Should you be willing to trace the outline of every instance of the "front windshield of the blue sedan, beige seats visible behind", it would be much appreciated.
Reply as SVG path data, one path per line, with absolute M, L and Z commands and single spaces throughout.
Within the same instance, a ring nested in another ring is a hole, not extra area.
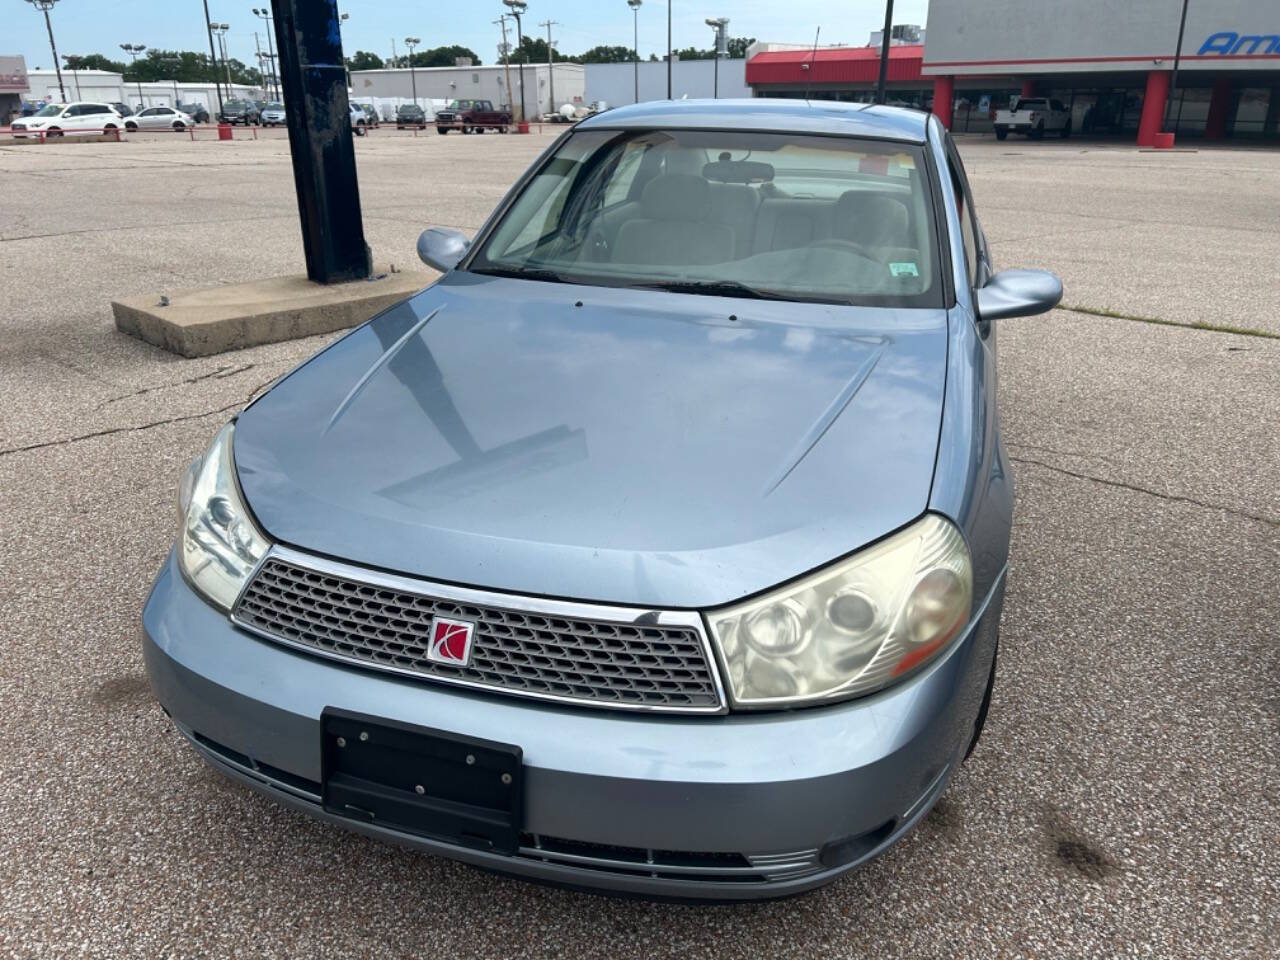
M 922 147 L 851 137 L 580 131 L 474 273 L 713 296 L 941 306 Z

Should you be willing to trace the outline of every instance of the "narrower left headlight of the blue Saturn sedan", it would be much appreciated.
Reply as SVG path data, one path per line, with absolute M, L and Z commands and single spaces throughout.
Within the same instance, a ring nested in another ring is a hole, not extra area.
M 269 547 L 241 500 L 232 460 L 233 426 L 218 431 L 187 470 L 178 493 L 178 562 L 191 585 L 229 611 Z

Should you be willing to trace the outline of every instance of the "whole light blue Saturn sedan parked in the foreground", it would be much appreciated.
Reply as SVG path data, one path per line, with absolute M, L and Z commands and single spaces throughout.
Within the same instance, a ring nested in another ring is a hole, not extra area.
M 193 749 L 632 895 L 797 893 L 900 840 L 992 699 L 998 328 L 1062 292 L 993 273 L 938 119 L 618 108 L 419 251 L 434 285 L 182 483 L 142 644 Z

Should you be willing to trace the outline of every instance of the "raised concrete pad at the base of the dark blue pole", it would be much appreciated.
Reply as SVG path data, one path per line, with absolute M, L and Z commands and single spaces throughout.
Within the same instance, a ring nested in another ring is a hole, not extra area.
M 184 357 L 314 337 L 362 324 L 417 293 L 428 273 L 375 270 L 369 280 L 324 285 L 306 276 L 205 287 L 111 301 L 115 326 Z

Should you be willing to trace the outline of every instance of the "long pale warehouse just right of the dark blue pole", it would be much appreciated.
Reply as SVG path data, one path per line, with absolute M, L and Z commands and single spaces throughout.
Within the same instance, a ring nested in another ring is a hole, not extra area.
M 511 88 L 507 73 L 511 73 Z M 581 104 L 585 97 L 582 64 L 557 63 L 525 64 L 525 110 L 530 119 L 552 113 L 562 104 Z M 553 91 L 554 88 L 554 91 Z M 520 68 L 508 67 L 419 67 L 410 70 L 397 67 L 381 70 L 353 70 L 351 96 L 376 102 L 410 102 L 415 91 L 419 105 L 430 110 L 433 104 L 449 100 L 490 100 L 520 113 Z M 554 92 L 554 96 L 553 96 Z

